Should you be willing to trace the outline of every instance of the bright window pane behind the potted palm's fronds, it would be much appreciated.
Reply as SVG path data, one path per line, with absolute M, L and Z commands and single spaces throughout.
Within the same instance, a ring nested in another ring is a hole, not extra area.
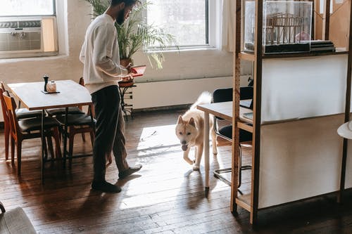
M 179 46 L 207 44 L 207 0 L 151 0 L 148 24 L 163 28 L 174 35 Z

